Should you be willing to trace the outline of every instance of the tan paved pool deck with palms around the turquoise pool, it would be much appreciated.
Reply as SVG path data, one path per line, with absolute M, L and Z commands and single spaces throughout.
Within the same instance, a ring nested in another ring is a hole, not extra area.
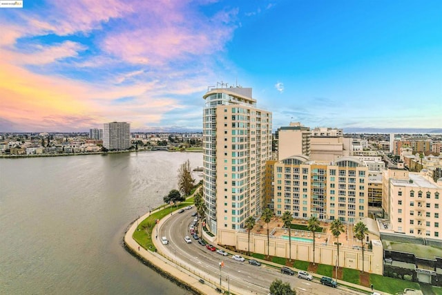
M 291 222 L 293 225 L 305 225 L 307 226 L 307 220 L 294 219 Z M 283 222 L 281 218 L 273 217 L 269 222 L 269 233 L 273 232 L 273 236 L 282 238 L 282 236 L 289 236 L 289 229 L 282 228 Z M 330 231 L 330 224 L 327 222 L 320 222 L 320 227 L 323 228 L 323 232 L 316 232 L 315 243 L 321 245 L 334 245 L 336 238 L 333 236 L 332 231 Z M 357 240 L 353 237 L 353 226 L 344 225 L 345 231 L 340 234 L 339 242 L 343 247 L 361 247 L 361 240 Z M 255 227 L 251 230 L 253 234 L 267 235 L 267 223 L 264 220 L 258 220 Z M 313 240 L 313 234 L 311 231 L 302 231 L 300 229 L 291 229 L 291 237 L 306 238 Z M 349 238 L 351 237 L 351 238 Z M 377 240 L 378 237 L 373 234 L 369 234 L 369 239 Z M 288 240 L 288 238 L 287 238 Z M 292 242 L 298 242 L 292 239 Z

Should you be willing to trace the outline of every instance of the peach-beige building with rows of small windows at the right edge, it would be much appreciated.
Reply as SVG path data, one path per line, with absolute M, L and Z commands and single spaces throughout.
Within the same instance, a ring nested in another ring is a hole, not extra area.
M 401 164 L 402 165 L 402 164 Z M 384 173 L 385 205 L 392 230 L 419 238 L 442 239 L 442 180 L 427 171 L 412 173 L 399 166 Z

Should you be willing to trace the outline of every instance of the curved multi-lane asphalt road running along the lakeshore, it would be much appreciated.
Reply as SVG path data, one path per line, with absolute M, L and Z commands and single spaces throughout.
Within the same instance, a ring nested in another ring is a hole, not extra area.
M 218 278 L 217 285 L 220 283 L 220 263 L 224 262 L 221 269 L 222 286 L 236 286 L 241 289 L 247 289 L 251 294 L 268 294 L 269 286 L 275 278 L 279 278 L 283 282 L 290 283 L 291 287 L 295 287 L 298 294 L 365 294 L 356 292 L 347 288 L 338 286 L 338 290 L 321 285 L 318 280 L 308 281 L 298 278 L 297 276 L 289 276 L 281 274 L 280 269 L 268 265 L 249 265 L 247 260 L 239 262 L 229 256 L 222 256 L 215 251 L 209 251 L 206 247 L 200 245 L 198 241 L 192 239 L 191 243 L 184 241 L 184 236 L 191 236 L 189 232 L 190 223 L 193 221 L 191 213 L 195 212 L 195 208 L 186 210 L 184 213 L 175 213 L 169 220 L 164 222 L 160 228 L 159 238 L 166 236 L 169 239 L 169 245 L 161 245 L 162 249 L 173 260 L 178 260 L 195 269 L 200 270 L 200 276 L 212 276 Z

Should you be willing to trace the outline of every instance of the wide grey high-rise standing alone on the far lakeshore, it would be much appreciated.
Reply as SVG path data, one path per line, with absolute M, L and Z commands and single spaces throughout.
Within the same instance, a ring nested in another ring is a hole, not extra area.
M 131 147 L 131 124 L 126 122 L 104 123 L 103 146 L 109 151 Z

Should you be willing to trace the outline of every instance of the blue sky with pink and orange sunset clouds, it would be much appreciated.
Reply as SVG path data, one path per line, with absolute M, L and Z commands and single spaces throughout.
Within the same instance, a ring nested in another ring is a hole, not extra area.
M 442 128 L 440 0 L 23 0 L 0 28 L 0 132 L 201 131 L 217 82 L 273 129 Z

